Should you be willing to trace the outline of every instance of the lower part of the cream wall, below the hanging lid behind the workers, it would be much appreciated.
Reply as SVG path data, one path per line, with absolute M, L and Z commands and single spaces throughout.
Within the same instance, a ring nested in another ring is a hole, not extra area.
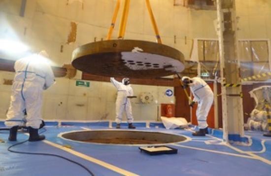
M 5 118 L 9 107 L 11 86 L 3 85 L 3 79 L 13 79 L 14 73 L 0 71 L 0 119 Z M 42 115 L 46 120 L 114 120 L 117 91 L 109 82 L 89 81 L 90 87 L 78 87 L 76 80 L 57 78 L 56 84 L 43 94 Z M 132 100 L 135 121 L 156 121 L 160 104 L 175 102 L 174 97 L 165 95 L 172 87 L 133 85 L 137 98 Z M 139 95 L 149 92 L 153 95 L 150 104 L 143 104 Z M 123 119 L 126 120 L 125 115 Z

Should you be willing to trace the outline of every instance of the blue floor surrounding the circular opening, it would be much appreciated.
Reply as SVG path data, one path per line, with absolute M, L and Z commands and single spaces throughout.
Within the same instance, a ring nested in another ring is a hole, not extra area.
M 259 132 L 246 133 L 254 142 L 250 146 L 228 146 L 211 135 L 193 137 L 191 130 L 166 130 L 157 125 L 150 125 L 147 129 L 144 125 L 138 125 L 136 130 L 174 133 L 190 139 L 168 144 L 178 149 L 177 154 L 150 156 L 140 152 L 138 146 L 84 143 L 58 137 L 62 132 L 86 128 L 109 130 L 107 124 L 80 125 L 52 125 L 47 126 L 44 132 L 47 141 L 60 146 L 68 145 L 71 147 L 69 151 L 75 151 L 76 154 L 44 141 L 26 142 L 12 149 L 65 156 L 84 165 L 95 176 L 120 176 L 125 175 L 122 174 L 124 171 L 139 176 L 271 176 L 271 139 L 262 138 Z M 126 130 L 127 127 L 123 129 Z M 7 141 L 7 137 L 8 131 L 0 131 L 0 139 L 4 140 L 0 143 L 0 176 L 89 176 L 83 168 L 61 158 L 11 153 L 7 148 L 16 142 Z M 26 134 L 18 134 L 18 141 L 27 139 Z M 81 158 L 77 156 L 78 153 L 96 160 Z

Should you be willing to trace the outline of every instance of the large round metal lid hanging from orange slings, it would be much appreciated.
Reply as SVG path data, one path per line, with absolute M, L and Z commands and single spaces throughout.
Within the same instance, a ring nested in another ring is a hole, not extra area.
M 72 53 L 72 66 L 87 73 L 112 77 L 152 78 L 184 70 L 183 54 L 170 46 L 142 40 L 104 40 Z

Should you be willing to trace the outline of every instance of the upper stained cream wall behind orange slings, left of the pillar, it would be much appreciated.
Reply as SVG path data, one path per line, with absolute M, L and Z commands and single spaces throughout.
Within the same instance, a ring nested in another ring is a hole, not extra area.
M 95 37 L 97 40 L 106 38 L 116 0 L 69 0 L 68 4 L 67 0 L 27 0 L 23 18 L 19 16 L 20 2 L 0 1 L 0 37 L 20 39 L 34 51 L 44 48 L 55 65 L 62 66 L 70 63 L 71 52 L 77 46 L 93 42 Z M 213 25 L 207 25 L 216 18 L 215 11 L 173 6 L 172 0 L 150 2 L 162 42 L 182 51 L 187 59 L 192 38 L 216 37 Z M 122 8 L 112 38 L 117 38 L 121 12 Z M 77 39 L 68 45 L 71 21 L 78 23 Z M 145 0 L 131 0 L 125 38 L 156 41 Z M 64 48 L 60 52 L 62 44 Z

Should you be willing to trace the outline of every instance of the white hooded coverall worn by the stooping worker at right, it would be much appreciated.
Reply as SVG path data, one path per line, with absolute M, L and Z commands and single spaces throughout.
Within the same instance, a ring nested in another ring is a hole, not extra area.
M 200 77 L 191 78 L 193 81 L 189 84 L 190 90 L 194 95 L 194 102 L 198 102 L 196 110 L 199 129 L 208 126 L 206 119 L 209 110 L 213 104 L 213 92 L 209 85 Z

